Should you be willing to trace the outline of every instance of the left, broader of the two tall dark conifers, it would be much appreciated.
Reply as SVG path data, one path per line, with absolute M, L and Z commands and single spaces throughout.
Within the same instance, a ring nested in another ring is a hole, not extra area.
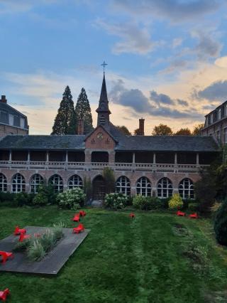
M 72 129 L 72 124 L 75 123 L 74 102 L 70 87 L 65 87 L 65 92 L 62 95 L 60 107 L 57 110 L 57 116 L 52 127 L 51 134 L 75 134 L 75 129 Z

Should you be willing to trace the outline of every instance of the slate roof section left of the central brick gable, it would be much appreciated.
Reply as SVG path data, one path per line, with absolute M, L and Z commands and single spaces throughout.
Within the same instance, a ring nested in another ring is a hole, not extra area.
M 9 134 L 0 141 L 0 149 L 84 149 L 85 136 L 79 135 L 17 135 Z

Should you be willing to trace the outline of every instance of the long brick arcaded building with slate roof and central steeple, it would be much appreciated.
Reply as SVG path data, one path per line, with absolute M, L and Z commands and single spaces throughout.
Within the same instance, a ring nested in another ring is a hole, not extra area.
M 7 135 L 0 141 L 0 190 L 35 192 L 44 179 L 55 191 L 83 186 L 91 178 L 94 200 L 104 197 L 102 172 L 109 166 L 116 191 L 165 198 L 179 192 L 194 198 L 199 169 L 218 153 L 212 137 L 126 136 L 110 122 L 105 75 L 101 87 L 97 126 L 88 135 Z

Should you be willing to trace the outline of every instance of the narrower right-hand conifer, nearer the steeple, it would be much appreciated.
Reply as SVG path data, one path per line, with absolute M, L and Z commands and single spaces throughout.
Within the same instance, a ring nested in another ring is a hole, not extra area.
M 89 132 L 92 132 L 92 129 L 93 129 L 92 112 L 91 112 L 91 107 L 89 104 L 89 100 L 87 98 L 86 91 L 84 90 L 84 87 L 82 87 L 82 90 L 77 99 L 75 112 L 76 112 L 77 121 L 79 119 L 84 120 L 84 134 L 88 134 Z

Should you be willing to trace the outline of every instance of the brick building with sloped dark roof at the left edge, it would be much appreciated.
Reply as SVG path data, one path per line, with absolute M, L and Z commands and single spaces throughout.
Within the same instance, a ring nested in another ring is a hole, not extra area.
M 28 119 L 11 107 L 2 95 L 0 99 L 0 137 L 6 134 L 28 134 Z

